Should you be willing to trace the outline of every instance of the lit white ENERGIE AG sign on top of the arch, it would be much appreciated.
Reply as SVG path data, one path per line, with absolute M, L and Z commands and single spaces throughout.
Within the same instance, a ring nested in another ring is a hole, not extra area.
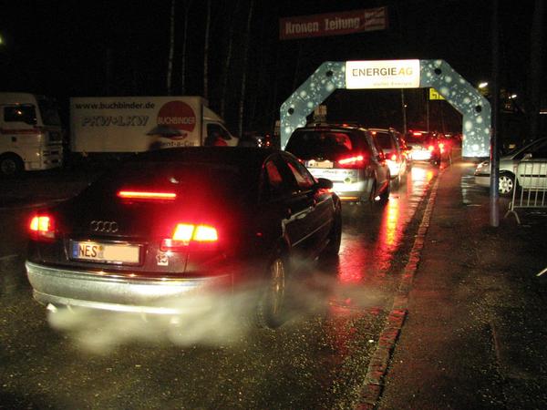
M 419 60 L 346 61 L 346 88 L 418 88 Z

